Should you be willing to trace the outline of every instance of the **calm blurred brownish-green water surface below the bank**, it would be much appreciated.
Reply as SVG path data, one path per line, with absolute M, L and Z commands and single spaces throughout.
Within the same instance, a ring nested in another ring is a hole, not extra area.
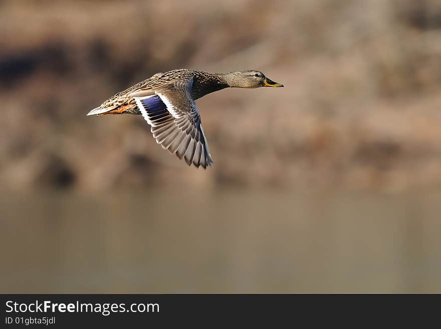
M 0 292 L 441 292 L 441 194 L 5 195 Z

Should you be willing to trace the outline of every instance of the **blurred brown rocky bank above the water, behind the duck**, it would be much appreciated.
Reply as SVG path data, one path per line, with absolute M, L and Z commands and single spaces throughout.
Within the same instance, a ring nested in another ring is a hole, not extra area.
M 0 186 L 440 187 L 440 63 L 435 0 L 0 1 Z M 206 171 L 139 116 L 85 116 L 181 67 L 285 88 L 197 102 Z

